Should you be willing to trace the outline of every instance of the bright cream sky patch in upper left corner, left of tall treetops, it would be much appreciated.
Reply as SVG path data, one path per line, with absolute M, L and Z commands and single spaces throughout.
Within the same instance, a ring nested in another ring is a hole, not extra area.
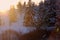
M 0 0 L 0 11 L 6 11 L 10 9 L 11 5 L 16 6 L 19 0 Z

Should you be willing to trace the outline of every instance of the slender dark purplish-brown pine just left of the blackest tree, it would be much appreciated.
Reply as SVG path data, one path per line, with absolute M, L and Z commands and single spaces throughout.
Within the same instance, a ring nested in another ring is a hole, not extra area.
M 40 4 L 39 4 L 39 10 L 38 10 L 38 12 L 37 12 L 37 21 L 36 21 L 36 26 L 37 26 L 37 28 L 39 29 L 40 27 L 41 27 L 41 25 L 42 25 L 42 23 L 43 23 L 43 16 L 44 16 L 44 3 L 43 3 L 43 1 L 41 1 L 40 2 Z

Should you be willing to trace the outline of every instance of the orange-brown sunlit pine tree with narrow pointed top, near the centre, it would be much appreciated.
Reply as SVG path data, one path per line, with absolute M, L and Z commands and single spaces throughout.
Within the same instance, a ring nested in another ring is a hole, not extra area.
M 31 6 L 31 0 L 29 0 L 29 7 L 27 8 L 26 12 L 25 12 L 25 16 L 24 16 L 24 25 L 25 26 L 34 26 L 34 11 L 33 8 Z

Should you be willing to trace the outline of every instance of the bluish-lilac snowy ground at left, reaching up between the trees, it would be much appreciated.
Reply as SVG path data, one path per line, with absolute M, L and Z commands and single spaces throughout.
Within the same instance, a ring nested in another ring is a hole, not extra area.
M 17 22 L 13 23 L 12 25 L 9 25 L 9 17 L 8 13 L 6 15 L 1 14 L 2 19 L 2 26 L 0 26 L 0 33 L 6 31 L 6 30 L 14 30 L 19 33 L 28 33 L 30 31 L 33 31 L 35 28 L 33 27 L 25 27 L 23 26 L 23 20 L 24 20 L 24 13 L 17 14 Z

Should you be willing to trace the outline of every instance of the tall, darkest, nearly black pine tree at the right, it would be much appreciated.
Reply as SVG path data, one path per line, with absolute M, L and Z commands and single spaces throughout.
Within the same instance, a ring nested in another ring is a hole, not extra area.
M 55 22 L 56 22 L 56 8 L 55 8 L 55 3 L 56 1 L 49 0 L 45 1 L 45 24 L 48 27 L 55 27 Z

